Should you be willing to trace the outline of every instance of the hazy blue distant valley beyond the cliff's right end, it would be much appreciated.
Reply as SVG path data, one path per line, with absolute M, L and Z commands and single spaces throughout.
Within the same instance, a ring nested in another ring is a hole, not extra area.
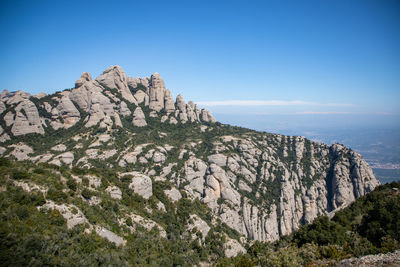
M 314 118 L 299 118 L 298 115 L 214 115 L 220 121 L 258 131 L 304 136 L 325 144 L 343 144 L 363 155 L 381 183 L 400 180 L 400 126 L 352 121 L 354 125 L 333 127 L 329 123 L 337 123 L 338 118 L 324 122 L 322 118 L 313 121 Z M 390 124 L 396 125 L 393 121 Z

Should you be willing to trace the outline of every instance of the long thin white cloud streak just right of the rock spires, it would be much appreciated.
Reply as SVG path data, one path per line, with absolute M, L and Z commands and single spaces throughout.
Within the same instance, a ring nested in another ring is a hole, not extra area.
M 203 106 L 353 106 L 352 104 L 316 103 L 302 100 L 221 100 L 221 101 L 198 101 Z

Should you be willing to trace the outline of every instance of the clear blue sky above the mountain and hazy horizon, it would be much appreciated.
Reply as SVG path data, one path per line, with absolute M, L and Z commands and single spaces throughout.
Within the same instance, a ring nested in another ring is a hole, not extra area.
M 400 127 L 397 0 L 1 0 L 0 34 L 1 90 L 120 65 L 235 125 Z

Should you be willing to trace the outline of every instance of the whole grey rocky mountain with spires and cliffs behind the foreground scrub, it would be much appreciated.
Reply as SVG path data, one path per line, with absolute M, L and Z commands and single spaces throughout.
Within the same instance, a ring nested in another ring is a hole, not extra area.
M 216 123 L 181 95 L 174 101 L 158 73 L 131 78 L 112 66 L 52 95 L 5 90 L 0 113 L 3 156 L 135 171 L 146 183 L 132 190 L 146 198 L 152 183 L 168 182 L 171 201 L 199 199 L 254 240 L 290 234 L 379 184 L 361 155 L 342 145 Z

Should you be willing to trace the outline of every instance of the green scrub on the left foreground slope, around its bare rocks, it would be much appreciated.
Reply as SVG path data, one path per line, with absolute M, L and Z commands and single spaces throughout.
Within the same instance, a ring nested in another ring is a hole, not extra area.
M 86 174 L 101 177 L 98 190 L 88 186 Z M 74 182 L 72 176 L 83 178 L 82 183 Z M 28 193 L 15 182 L 34 183 L 47 187 L 48 191 Z M 109 184 L 123 191 L 120 201 L 102 190 Z M 224 233 L 231 233 L 220 222 L 213 226 L 211 212 L 205 204 L 185 197 L 175 203 L 168 201 L 163 193 L 168 183 L 154 183 L 153 196 L 146 200 L 130 191 L 126 181 L 111 171 L 69 170 L 0 158 L 0 188 L 1 266 L 193 266 L 223 257 Z M 93 196 L 101 199 L 99 205 L 89 205 L 88 199 Z M 87 225 L 68 229 L 57 210 L 38 209 L 46 200 L 75 205 L 90 224 L 108 227 L 123 236 L 126 246 L 117 247 L 94 231 L 85 233 Z M 146 207 L 154 207 L 158 200 L 163 202 L 166 212 L 154 208 L 150 213 Z M 160 237 L 157 228 L 147 231 L 138 227 L 131 234 L 127 226 L 118 224 L 118 218 L 128 212 L 156 221 L 166 230 L 167 238 Z M 190 214 L 197 214 L 211 226 L 201 244 L 202 236 L 196 229 L 185 233 Z M 191 238 L 192 234 L 198 238 Z

